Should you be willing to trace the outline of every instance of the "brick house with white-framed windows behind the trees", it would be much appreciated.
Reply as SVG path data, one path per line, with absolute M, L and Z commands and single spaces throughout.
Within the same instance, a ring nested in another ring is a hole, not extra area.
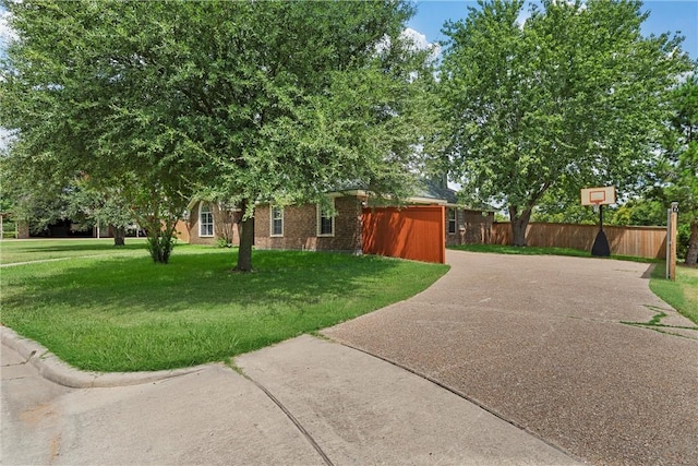
M 332 211 L 320 204 L 278 207 L 258 203 L 254 211 L 254 244 L 257 249 L 292 249 L 308 251 L 360 252 L 362 213 L 370 204 L 369 194 L 360 189 L 328 193 Z M 408 200 L 408 205 L 445 206 L 446 246 L 482 243 L 490 238 L 494 213 L 466 210 L 458 205 L 456 192 L 445 182 L 428 181 Z M 241 212 L 216 203 L 194 201 L 188 216 L 178 225 L 178 237 L 193 244 L 214 244 L 224 238 L 239 244 L 238 225 Z

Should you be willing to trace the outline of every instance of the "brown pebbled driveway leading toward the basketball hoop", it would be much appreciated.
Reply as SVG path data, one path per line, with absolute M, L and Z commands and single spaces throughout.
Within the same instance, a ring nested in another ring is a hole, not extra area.
M 586 462 L 698 464 L 698 332 L 649 290 L 647 264 L 457 251 L 447 261 L 424 292 L 324 335 Z

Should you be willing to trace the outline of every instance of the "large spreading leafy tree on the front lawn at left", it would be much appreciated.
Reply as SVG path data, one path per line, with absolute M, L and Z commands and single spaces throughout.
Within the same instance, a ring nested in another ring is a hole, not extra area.
M 401 35 L 408 2 L 5 8 L 17 40 L 0 122 L 27 163 L 128 176 L 166 231 L 197 192 L 236 203 L 240 271 L 258 200 L 320 200 L 347 182 L 400 194 L 410 181 L 431 73 Z

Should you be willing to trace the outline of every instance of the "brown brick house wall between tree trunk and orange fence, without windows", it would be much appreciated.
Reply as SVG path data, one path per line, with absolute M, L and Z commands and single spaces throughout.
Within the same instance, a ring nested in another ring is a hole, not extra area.
M 272 236 L 269 204 L 254 211 L 254 244 L 258 249 L 293 249 L 308 251 L 360 251 L 361 199 L 335 198 L 334 236 L 317 236 L 317 205 L 302 204 L 284 207 L 284 235 Z

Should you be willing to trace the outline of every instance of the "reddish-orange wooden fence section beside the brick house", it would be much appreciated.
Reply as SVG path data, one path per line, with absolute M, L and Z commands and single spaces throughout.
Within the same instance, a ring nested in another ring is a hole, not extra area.
M 423 262 L 446 262 L 443 206 L 364 208 L 361 215 L 365 254 Z

